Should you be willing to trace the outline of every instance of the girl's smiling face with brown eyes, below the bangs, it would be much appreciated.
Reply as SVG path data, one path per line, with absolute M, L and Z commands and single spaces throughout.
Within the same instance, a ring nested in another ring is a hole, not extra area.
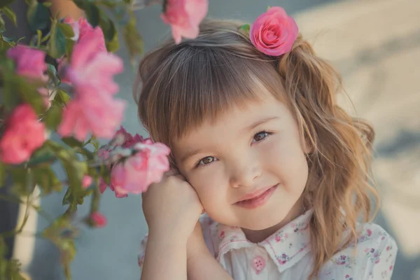
M 218 223 L 265 230 L 300 212 L 307 151 L 292 113 L 271 94 L 202 124 L 172 151 Z

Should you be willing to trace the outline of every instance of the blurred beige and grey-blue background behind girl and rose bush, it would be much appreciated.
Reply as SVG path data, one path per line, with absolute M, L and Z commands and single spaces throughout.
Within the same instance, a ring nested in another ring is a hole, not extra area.
M 18 17 L 19 13 L 25 15 L 23 0 L 14 5 Z M 267 6 L 283 6 L 294 16 L 318 55 L 341 71 L 353 104 L 344 95 L 339 97 L 340 104 L 374 125 L 374 175 L 383 198 L 375 222 L 398 243 L 393 279 L 420 280 L 420 1 L 209 0 L 208 16 L 251 23 Z M 73 13 L 69 9 L 66 12 Z M 160 13 L 158 5 L 137 11 L 137 27 L 146 51 L 169 36 Z M 13 32 L 28 34 L 24 24 L 18 26 L 20 29 Z M 132 134 L 146 135 L 132 99 L 135 69 L 130 68 L 123 44 L 118 55 L 126 65 L 125 73 L 117 78 L 120 97 L 128 103 L 123 125 Z M 64 210 L 62 195 L 41 200 L 50 216 Z M 3 211 L 19 216 L 16 207 L 4 207 L 1 216 L 6 213 Z M 87 213 L 87 207 L 80 207 L 80 216 Z M 147 232 L 141 197 L 116 199 L 106 192 L 101 209 L 109 225 L 80 230 L 78 253 L 71 267 L 73 279 L 139 279 L 137 249 Z M 34 231 L 46 225 L 48 221 L 42 217 L 29 223 Z M 22 260 L 22 268 L 32 280 L 64 279 L 59 255 L 48 241 L 19 237 L 13 255 Z

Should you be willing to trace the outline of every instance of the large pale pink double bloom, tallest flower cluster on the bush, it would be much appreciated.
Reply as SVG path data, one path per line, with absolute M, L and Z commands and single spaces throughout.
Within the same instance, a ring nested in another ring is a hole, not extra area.
M 92 132 L 110 139 L 123 120 L 125 102 L 112 98 L 118 92 L 113 76 L 123 70 L 123 61 L 108 52 L 98 52 L 102 40 L 101 29 L 87 30 L 74 45 L 71 63 L 64 69 L 75 97 L 63 111 L 58 128 L 63 137 L 73 134 L 83 141 Z

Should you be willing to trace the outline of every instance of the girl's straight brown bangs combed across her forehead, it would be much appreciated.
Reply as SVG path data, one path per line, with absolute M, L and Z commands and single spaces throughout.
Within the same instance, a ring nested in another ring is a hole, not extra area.
M 278 90 L 279 76 L 267 61 L 250 61 L 222 48 L 179 45 L 160 65 L 158 80 L 150 92 L 159 92 L 148 119 L 154 120 L 151 136 L 170 144 L 204 121 L 214 122 L 232 106 L 258 102 L 265 94 Z M 272 79 L 267 79 L 272 72 Z M 265 73 L 262 76 L 260 73 Z M 264 88 L 265 87 L 265 88 Z M 268 87 L 268 88 L 267 88 Z M 155 132 L 158 132 L 155 134 Z M 154 135 L 153 135 L 154 134 Z

